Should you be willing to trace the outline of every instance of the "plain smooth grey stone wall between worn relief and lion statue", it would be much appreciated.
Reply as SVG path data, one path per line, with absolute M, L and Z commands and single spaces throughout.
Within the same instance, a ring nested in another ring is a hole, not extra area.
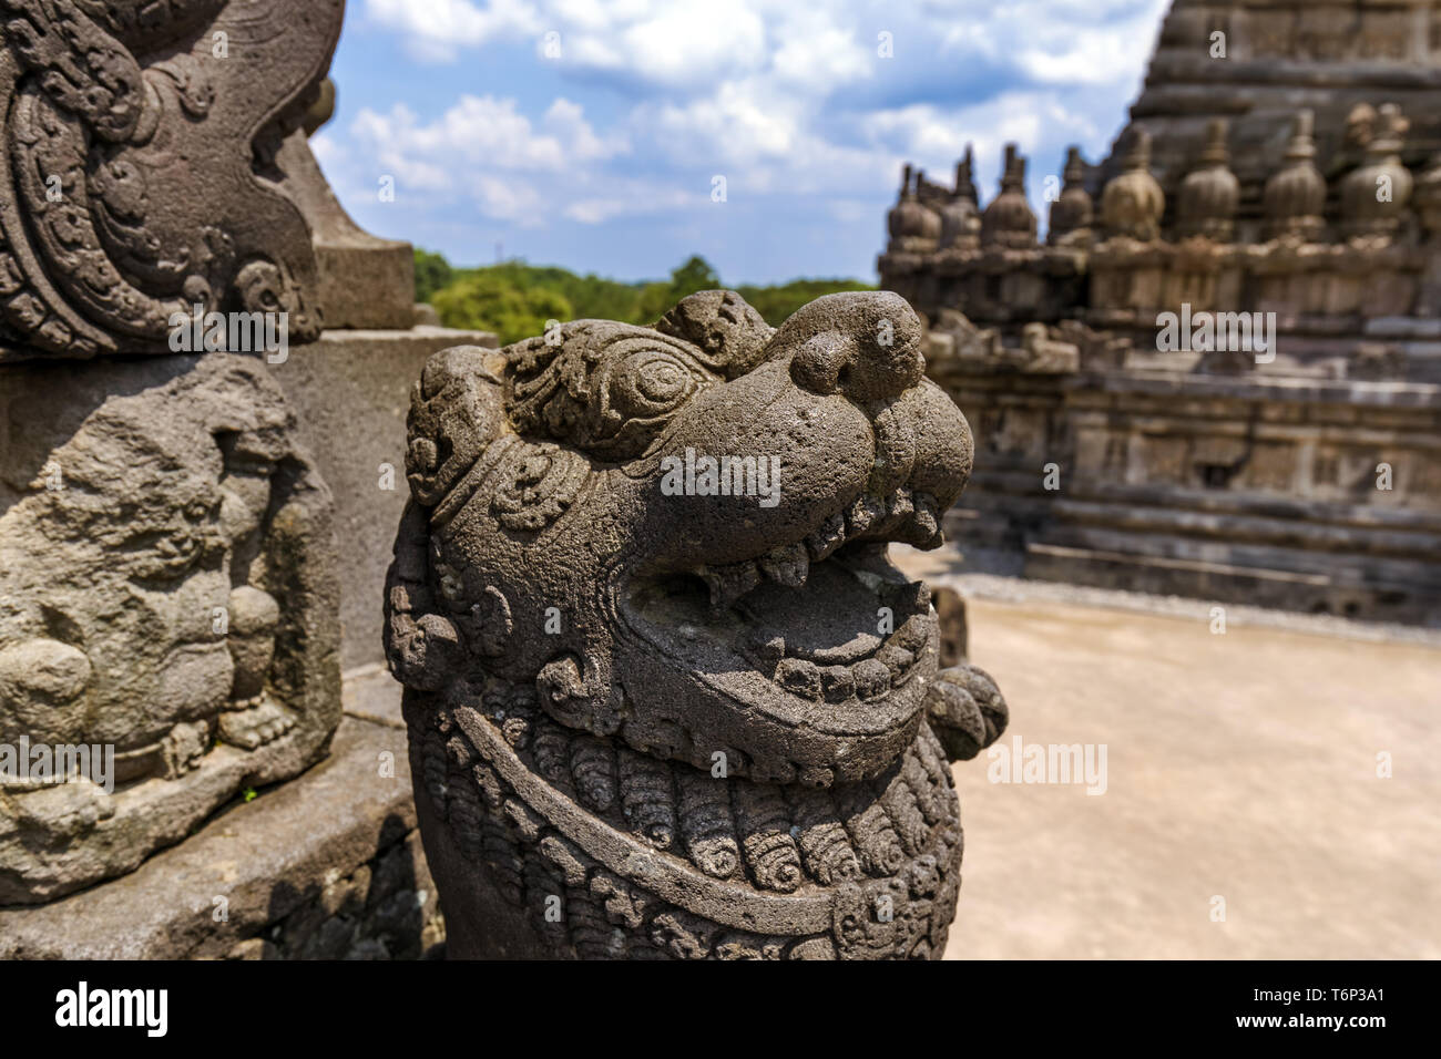
M 329 318 L 329 317 L 327 317 Z M 496 346 L 484 331 L 414 327 L 327 330 L 293 349 L 272 375 L 295 409 L 300 438 L 336 497 L 340 667 L 385 660 L 380 608 L 395 523 L 405 509 L 405 412 L 411 380 L 455 344 Z

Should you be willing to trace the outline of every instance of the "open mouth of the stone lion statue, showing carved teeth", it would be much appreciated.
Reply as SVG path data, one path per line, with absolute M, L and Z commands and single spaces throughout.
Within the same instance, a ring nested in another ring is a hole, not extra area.
M 892 540 L 934 535 L 932 504 L 905 488 L 863 496 L 754 559 L 637 575 L 621 617 L 667 667 L 692 674 L 693 693 L 804 733 L 846 775 L 852 756 L 914 735 L 935 673 L 929 591 L 886 558 Z M 633 702 L 646 690 L 627 689 Z

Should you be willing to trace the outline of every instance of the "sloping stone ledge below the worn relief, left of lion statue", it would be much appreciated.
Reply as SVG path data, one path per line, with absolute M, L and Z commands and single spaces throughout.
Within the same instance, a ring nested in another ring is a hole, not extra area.
M 399 715 L 385 673 L 346 709 Z M 117 924 L 122 925 L 117 928 Z M 0 908 L 0 958 L 416 958 L 444 939 L 415 830 L 405 730 L 346 718 L 330 756 L 233 803 L 131 875 Z

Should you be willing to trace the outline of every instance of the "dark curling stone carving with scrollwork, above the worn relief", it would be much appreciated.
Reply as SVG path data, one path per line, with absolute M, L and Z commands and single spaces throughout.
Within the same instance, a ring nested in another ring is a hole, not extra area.
M 310 229 L 275 154 L 343 10 L 0 0 L 0 357 L 169 353 L 195 305 L 317 337 Z

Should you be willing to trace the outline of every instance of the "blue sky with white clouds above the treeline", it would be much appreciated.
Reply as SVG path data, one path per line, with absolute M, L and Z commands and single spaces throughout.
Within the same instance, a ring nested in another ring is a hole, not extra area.
M 984 202 L 1014 140 L 1038 206 L 1068 144 L 1104 156 L 1166 6 L 350 0 L 314 146 L 359 223 L 455 264 L 872 280 L 904 161 L 948 182 L 974 141 Z

